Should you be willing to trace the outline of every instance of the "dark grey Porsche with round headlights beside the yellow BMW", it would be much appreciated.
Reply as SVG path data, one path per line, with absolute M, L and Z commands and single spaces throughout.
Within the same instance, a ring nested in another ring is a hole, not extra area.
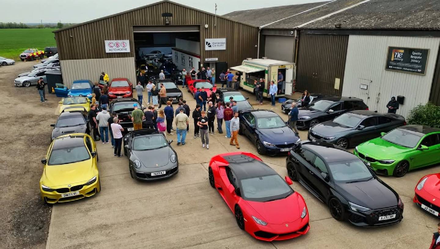
M 132 131 L 124 136 L 124 155 L 129 159 L 128 169 L 137 180 L 159 180 L 179 172 L 177 153 L 166 141 L 165 135 L 154 129 Z

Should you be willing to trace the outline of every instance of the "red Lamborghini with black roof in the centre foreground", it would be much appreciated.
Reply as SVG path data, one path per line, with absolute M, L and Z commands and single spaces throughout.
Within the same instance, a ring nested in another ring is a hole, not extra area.
M 310 229 L 304 198 L 259 157 L 232 152 L 211 158 L 209 184 L 235 214 L 240 229 L 254 238 L 273 241 L 295 238 Z

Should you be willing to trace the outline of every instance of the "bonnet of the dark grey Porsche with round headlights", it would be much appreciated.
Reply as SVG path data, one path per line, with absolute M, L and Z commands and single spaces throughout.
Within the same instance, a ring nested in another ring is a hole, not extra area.
M 148 151 L 133 151 L 133 154 L 142 162 L 142 167 L 146 168 L 157 168 L 167 165 L 171 153 L 174 152 L 172 152 L 169 146 Z

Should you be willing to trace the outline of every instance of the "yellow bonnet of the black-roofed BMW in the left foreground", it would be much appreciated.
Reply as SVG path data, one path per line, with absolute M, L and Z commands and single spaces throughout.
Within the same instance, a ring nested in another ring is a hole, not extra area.
M 92 158 L 82 162 L 64 165 L 48 165 L 44 169 L 43 184 L 55 188 L 66 184 L 86 182 L 97 173 L 92 164 Z

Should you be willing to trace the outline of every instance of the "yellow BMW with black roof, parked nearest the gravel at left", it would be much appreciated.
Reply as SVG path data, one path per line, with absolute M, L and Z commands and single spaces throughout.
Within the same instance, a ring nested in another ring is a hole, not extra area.
M 70 202 L 101 191 L 96 144 L 87 134 L 55 138 L 41 162 L 40 191 L 46 203 Z

